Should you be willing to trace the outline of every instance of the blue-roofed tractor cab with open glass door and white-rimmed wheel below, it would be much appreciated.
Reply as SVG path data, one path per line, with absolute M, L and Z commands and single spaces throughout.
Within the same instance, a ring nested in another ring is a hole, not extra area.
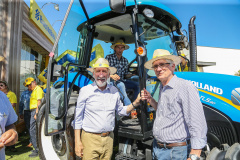
M 146 88 L 156 100 L 161 84 L 152 70 L 144 68 L 144 63 L 152 59 L 156 49 L 178 55 L 179 44 L 183 44 L 183 41 L 179 43 L 180 38 L 176 40 L 176 37 L 182 36 L 181 23 L 166 6 L 149 0 L 110 0 L 109 4 L 109 7 L 90 15 L 81 0 L 73 0 L 69 4 L 47 71 L 46 104 L 42 111 L 45 116 L 41 118 L 43 123 L 40 123 L 42 127 L 39 127 L 38 133 L 42 137 L 40 152 L 42 150 L 46 159 L 71 159 L 74 155 L 68 153 L 74 153 L 71 122 L 77 97 L 83 86 L 94 81 L 86 68 L 92 67 L 98 58 L 114 54 L 110 47 L 113 43 L 122 39 L 129 46 L 123 57 L 129 62 L 128 74 L 134 76 L 128 80 L 137 82 L 140 90 Z M 133 91 L 126 90 L 133 101 Z M 119 153 L 125 152 L 126 155 L 136 151 L 135 155 L 143 159 L 151 155 L 154 117 L 154 109 L 142 102 L 136 119 L 120 118 L 116 122 Z M 47 136 L 51 138 L 47 139 Z M 124 149 L 126 141 L 127 150 Z M 47 150 L 52 150 L 55 155 L 47 155 Z M 118 154 L 116 159 L 120 157 L 121 154 Z

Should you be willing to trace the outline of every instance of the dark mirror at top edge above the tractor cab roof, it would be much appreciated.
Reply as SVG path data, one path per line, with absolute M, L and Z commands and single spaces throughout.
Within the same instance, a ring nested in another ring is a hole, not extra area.
M 126 12 L 126 0 L 109 0 L 109 6 L 113 12 Z

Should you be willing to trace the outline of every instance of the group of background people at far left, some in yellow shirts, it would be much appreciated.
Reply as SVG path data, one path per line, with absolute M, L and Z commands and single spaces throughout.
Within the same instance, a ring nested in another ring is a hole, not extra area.
M 44 92 L 34 78 L 28 77 L 23 83 L 27 89 L 21 93 L 19 101 L 19 118 L 24 119 L 26 128 L 30 135 L 30 141 L 27 147 L 33 146 L 29 157 L 38 156 L 38 147 L 36 140 L 36 114 Z M 5 147 L 7 150 L 16 152 L 15 143 L 18 140 L 18 134 L 14 123 L 18 120 L 16 114 L 17 97 L 9 89 L 6 81 L 0 81 L 0 159 L 5 159 Z M 10 137 L 10 138 L 9 138 Z

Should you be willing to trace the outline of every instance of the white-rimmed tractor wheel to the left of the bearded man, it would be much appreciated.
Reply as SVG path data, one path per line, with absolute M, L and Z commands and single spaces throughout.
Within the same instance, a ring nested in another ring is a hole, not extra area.
M 54 136 L 45 136 L 44 114 L 38 120 L 37 140 L 39 147 L 39 157 L 41 160 L 68 160 L 73 159 L 69 153 L 69 143 L 66 132 Z

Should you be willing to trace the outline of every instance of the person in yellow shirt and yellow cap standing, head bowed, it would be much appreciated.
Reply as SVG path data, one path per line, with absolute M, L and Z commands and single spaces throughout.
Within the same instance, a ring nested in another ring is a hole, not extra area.
M 34 150 L 29 155 L 29 157 L 36 157 L 38 156 L 38 147 L 37 147 L 37 140 L 36 140 L 36 114 L 38 113 L 38 106 L 41 104 L 41 99 L 44 96 L 44 92 L 40 86 L 37 85 L 37 82 L 34 78 L 29 77 L 25 80 L 25 85 L 32 90 L 32 94 L 30 97 L 30 111 L 31 111 L 31 118 L 30 118 L 30 137 L 32 140 L 32 145 Z

